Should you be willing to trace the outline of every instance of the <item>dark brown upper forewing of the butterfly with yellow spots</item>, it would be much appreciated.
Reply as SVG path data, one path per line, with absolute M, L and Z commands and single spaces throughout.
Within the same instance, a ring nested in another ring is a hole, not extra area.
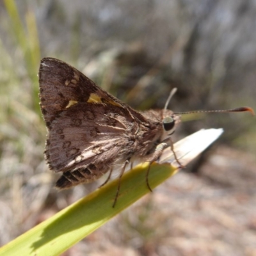
M 63 61 L 42 59 L 38 76 L 40 106 L 48 128 L 51 128 L 52 121 L 67 106 L 76 102 L 88 102 L 90 97 L 95 101 L 104 100 L 122 106 L 120 100 L 100 89 L 83 73 Z

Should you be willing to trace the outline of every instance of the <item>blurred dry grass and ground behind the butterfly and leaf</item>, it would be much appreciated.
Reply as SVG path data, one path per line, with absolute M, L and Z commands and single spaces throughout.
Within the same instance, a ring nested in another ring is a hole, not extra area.
M 43 57 L 59 58 L 136 109 L 256 109 L 256 1 L 0 2 L 0 244 L 99 183 L 57 193 L 44 161 Z M 69 255 L 256 255 L 255 118 L 186 115 L 179 138 L 225 133 L 175 177 Z M 104 180 L 104 179 L 103 179 Z M 100 181 L 101 182 L 101 181 Z

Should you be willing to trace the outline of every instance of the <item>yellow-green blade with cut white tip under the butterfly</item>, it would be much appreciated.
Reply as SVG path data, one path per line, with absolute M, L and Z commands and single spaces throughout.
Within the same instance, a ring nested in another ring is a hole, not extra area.
M 196 156 L 209 146 L 212 141 L 220 136 L 221 129 L 209 129 L 196 132 L 174 145 L 177 146 L 177 156 L 181 163 L 182 159 L 191 159 L 193 151 Z M 205 136 L 207 140 L 198 142 L 198 138 Z M 203 135 L 204 134 L 204 135 Z M 199 137 L 198 137 L 199 136 Z M 194 148 L 194 149 L 193 149 Z M 189 153 L 190 152 L 190 153 Z M 190 157 L 187 157 L 190 154 Z M 191 155 L 192 154 L 192 155 Z M 172 152 L 168 148 L 164 152 L 164 160 L 170 161 Z M 120 195 L 115 208 L 112 207 L 115 199 L 118 180 L 109 182 L 104 187 L 97 189 L 90 195 L 82 198 L 66 209 L 58 212 L 48 220 L 40 223 L 12 242 L 0 248 L 0 254 L 3 255 L 60 255 L 72 245 L 84 237 L 91 234 L 94 230 L 102 226 L 116 214 L 123 211 L 129 205 L 133 204 L 147 194 L 148 188 L 145 182 L 145 173 L 148 164 L 139 164 L 131 172 L 127 172 L 122 177 Z M 150 166 L 149 182 L 152 189 L 156 188 L 164 180 L 171 177 L 177 172 L 178 168 L 169 163 L 157 164 Z

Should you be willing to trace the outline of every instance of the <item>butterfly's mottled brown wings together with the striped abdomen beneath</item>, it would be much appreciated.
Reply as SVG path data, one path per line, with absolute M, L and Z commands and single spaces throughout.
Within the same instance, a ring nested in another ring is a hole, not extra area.
M 39 82 L 49 130 L 45 156 L 54 172 L 63 172 L 57 187 L 92 182 L 129 157 L 129 134 L 146 121 L 143 115 L 60 60 L 42 60 Z

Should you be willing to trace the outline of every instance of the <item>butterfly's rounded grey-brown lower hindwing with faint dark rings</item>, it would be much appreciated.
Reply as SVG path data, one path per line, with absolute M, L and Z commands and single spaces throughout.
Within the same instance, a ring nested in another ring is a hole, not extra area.
M 137 127 L 126 111 L 116 107 L 112 115 L 113 106 L 87 102 L 63 111 L 49 131 L 46 156 L 51 169 L 65 172 L 121 158 L 129 143 L 127 131 Z

